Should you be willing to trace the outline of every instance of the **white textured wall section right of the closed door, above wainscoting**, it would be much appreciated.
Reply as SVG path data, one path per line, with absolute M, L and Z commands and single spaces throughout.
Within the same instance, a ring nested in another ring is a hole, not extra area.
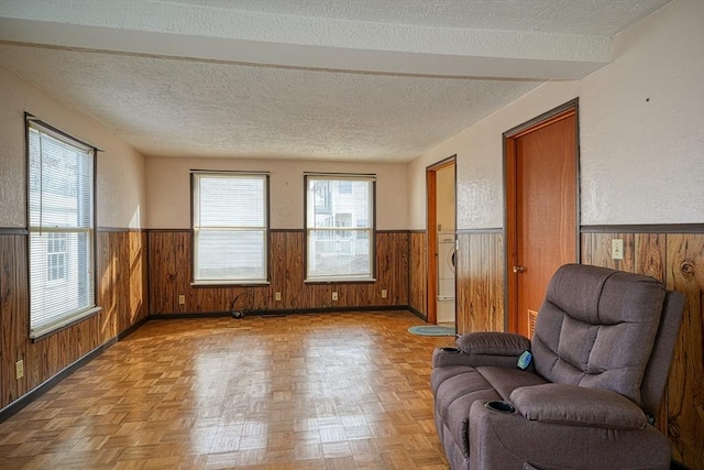
M 704 2 L 614 41 L 580 97 L 582 223 L 704 222 Z

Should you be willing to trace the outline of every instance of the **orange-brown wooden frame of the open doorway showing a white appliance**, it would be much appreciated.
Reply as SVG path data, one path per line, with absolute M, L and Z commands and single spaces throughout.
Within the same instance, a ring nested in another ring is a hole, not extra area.
M 427 245 L 426 253 L 428 256 L 428 278 L 426 288 L 426 321 L 431 325 L 438 324 L 438 171 L 447 168 L 448 166 L 454 167 L 454 233 L 457 237 L 457 220 L 458 220 L 458 165 L 457 153 L 432 165 L 426 166 L 426 231 Z M 457 265 L 455 265 L 454 285 L 457 287 Z M 457 292 L 457 288 L 455 288 Z M 454 304 L 454 323 L 457 325 L 457 298 Z

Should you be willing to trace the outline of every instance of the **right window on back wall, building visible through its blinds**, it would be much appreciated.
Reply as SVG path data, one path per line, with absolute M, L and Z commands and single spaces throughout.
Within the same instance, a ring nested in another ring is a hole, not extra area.
M 374 184 L 306 175 L 306 281 L 374 281 Z

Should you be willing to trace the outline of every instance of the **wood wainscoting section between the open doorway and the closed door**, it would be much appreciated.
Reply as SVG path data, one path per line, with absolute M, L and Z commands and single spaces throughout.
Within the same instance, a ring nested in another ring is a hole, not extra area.
M 458 334 L 504 331 L 504 231 L 459 230 L 457 237 Z

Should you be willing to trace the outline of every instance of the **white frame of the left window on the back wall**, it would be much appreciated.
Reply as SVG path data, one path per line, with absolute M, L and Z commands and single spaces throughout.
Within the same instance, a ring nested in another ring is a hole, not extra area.
M 223 225 L 208 225 L 202 221 L 200 217 L 201 211 L 201 198 L 200 187 L 201 182 L 208 178 L 240 178 L 240 179 L 256 179 L 263 182 L 262 194 L 262 220 L 263 226 L 237 226 L 231 223 Z M 217 171 L 191 171 L 191 229 L 194 234 L 194 248 L 193 248 L 193 281 L 191 285 L 262 285 L 268 284 L 268 173 L 265 172 L 217 172 Z M 199 255 L 199 237 L 201 233 L 209 231 L 226 231 L 226 232 L 242 232 L 242 231 L 260 231 L 263 243 L 262 259 L 261 259 L 261 276 L 199 276 L 200 263 L 202 256 Z

